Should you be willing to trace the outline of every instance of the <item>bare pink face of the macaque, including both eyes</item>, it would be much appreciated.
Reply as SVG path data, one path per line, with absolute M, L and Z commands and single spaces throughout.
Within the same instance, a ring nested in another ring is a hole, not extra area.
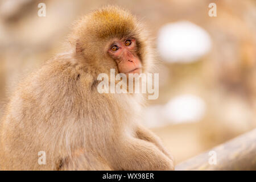
M 138 73 L 142 72 L 141 60 L 136 54 L 136 40 L 125 39 L 116 41 L 110 46 L 109 54 L 117 61 L 120 73 Z

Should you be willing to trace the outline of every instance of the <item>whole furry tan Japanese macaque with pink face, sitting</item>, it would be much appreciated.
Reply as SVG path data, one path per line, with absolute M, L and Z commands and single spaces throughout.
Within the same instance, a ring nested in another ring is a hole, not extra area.
M 47 61 L 11 97 L 0 127 L 0 169 L 174 169 L 159 138 L 139 125 L 143 98 L 97 91 L 98 75 L 110 69 L 150 70 L 141 23 L 107 6 L 78 20 L 69 42 L 70 53 Z

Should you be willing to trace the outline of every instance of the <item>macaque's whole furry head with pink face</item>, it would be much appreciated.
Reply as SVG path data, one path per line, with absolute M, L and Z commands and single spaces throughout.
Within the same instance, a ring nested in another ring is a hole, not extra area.
M 77 21 L 71 40 L 75 53 L 98 72 L 147 72 L 150 40 L 142 24 L 129 11 L 107 6 Z

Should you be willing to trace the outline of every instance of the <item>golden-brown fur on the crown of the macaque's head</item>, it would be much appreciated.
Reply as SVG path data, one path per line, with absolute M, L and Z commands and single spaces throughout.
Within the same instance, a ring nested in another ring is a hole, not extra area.
M 109 5 L 77 20 L 72 34 L 80 39 L 88 34 L 100 39 L 123 38 L 136 34 L 140 28 L 139 21 L 129 11 Z

